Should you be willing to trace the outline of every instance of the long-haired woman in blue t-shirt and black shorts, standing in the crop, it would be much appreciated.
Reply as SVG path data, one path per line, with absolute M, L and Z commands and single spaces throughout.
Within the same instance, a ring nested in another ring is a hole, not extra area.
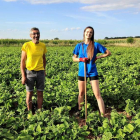
M 103 53 L 97 56 L 97 53 Z M 76 45 L 73 51 L 73 61 L 79 62 L 78 72 L 78 109 L 81 110 L 81 103 L 84 101 L 85 81 L 84 81 L 84 62 L 86 63 L 86 77 L 89 77 L 93 93 L 98 102 L 101 114 L 105 114 L 105 105 L 99 90 L 98 72 L 95 61 L 100 58 L 111 55 L 110 51 L 101 44 L 94 42 L 94 29 L 90 26 L 86 27 L 83 34 L 83 43 Z

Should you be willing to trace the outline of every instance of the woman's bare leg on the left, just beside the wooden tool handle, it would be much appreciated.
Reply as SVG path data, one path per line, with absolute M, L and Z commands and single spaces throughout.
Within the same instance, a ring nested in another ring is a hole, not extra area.
M 85 81 L 78 80 L 78 88 L 79 88 L 79 95 L 78 95 L 78 109 L 82 109 L 81 103 L 84 102 L 84 95 L 85 95 Z

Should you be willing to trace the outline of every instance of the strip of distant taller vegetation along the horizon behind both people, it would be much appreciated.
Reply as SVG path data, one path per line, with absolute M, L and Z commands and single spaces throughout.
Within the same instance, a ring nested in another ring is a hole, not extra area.
M 136 38 L 136 37 L 135 37 Z M 105 37 L 105 39 L 98 39 L 95 40 L 95 42 L 98 42 L 102 45 L 107 44 L 114 44 L 114 43 L 134 43 L 135 42 L 134 37 L 115 37 L 115 38 L 108 38 Z M 137 36 L 137 38 L 140 38 L 140 36 Z M 114 40 L 109 40 L 114 39 Z M 120 39 L 120 40 L 119 40 Z M 30 39 L 0 39 L 0 46 L 19 46 L 21 47 L 25 42 L 30 41 Z M 59 38 L 55 38 L 52 40 L 40 40 L 41 42 L 45 43 L 47 46 L 75 46 L 76 44 L 82 42 L 83 40 L 59 40 Z

